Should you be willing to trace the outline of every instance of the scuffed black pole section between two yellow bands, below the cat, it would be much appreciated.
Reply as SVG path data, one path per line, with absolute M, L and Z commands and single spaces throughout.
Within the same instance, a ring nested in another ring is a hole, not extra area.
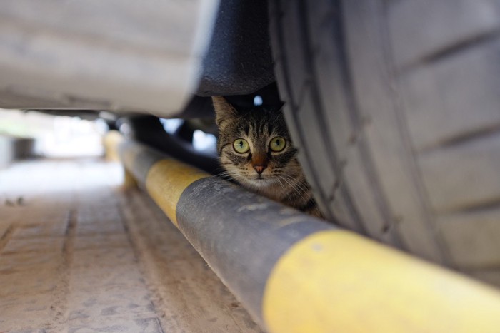
M 279 257 L 311 233 L 334 229 L 219 178 L 197 180 L 184 190 L 177 222 L 224 284 L 245 299 L 246 308 L 259 319 L 264 287 Z

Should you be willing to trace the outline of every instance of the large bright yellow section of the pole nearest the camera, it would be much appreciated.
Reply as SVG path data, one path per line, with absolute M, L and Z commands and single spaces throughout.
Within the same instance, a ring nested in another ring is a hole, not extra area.
M 352 232 L 292 246 L 266 284 L 270 332 L 500 332 L 500 293 Z

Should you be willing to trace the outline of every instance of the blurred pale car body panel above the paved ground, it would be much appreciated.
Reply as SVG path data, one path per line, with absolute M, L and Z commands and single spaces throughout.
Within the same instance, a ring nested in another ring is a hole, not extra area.
M 5 0 L 0 108 L 179 112 L 218 0 Z

